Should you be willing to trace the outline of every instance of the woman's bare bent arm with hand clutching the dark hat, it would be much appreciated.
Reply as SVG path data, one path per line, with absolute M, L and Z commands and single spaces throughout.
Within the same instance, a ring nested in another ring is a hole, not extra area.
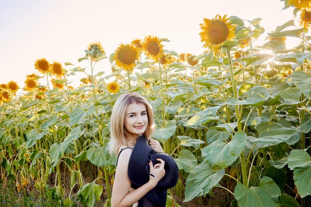
M 150 162 L 150 173 L 155 177 L 150 176 L 148 183 L 130 193 L 131 181 L 128 176 L 128 164 L 131 153 L 132 150 L 127 149 L 120 154 L 112 188 L 111 207 L 130 207 L 152 190 L 164 177 L 164 161 L 159 159 L 160 163 L 155 166 Z

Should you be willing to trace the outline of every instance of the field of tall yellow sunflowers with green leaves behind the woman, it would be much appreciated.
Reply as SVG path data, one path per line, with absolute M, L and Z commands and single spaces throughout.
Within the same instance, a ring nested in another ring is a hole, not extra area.
M 166 207 L 218 207 L 215 190 L 221 206 L 311 207 L 311 1 L 284 3 L 300 25 L 277 26 L 261 45 L 260 18 L 216 15 L 200 24 L 202 54 L 149 35 L 108 57 L 91 43 L 78 59 L 87 68 L 36 60 L 24 87 L 0 84 L 1 185 L 50 187 L 59 206 L 110 207 L 109 118 L 116 99 L 135 92 L 153 106 L 154 138 L 179 167 Z M 287 37 L 300 43 L 288 49 Z M 93 73 L 108 60 L 111 74 Z M 72 87 L 77 73 L 85 77 Z

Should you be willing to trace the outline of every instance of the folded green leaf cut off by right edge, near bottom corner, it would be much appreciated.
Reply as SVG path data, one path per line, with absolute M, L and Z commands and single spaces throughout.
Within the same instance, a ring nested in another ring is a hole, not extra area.
M 311 195 L 311 156 L 302 149 L 294 149 L 288 157 L 288 167 L 294 170 L 294 181 L 301 198 Z

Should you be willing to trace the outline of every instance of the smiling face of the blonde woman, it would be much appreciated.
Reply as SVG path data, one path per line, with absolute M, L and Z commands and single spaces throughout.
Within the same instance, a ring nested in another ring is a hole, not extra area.
M 148 126 L 148 116 L 144 104 L 130 104 L 125 112 L 124 126 L 134 137 L 143 135 Z

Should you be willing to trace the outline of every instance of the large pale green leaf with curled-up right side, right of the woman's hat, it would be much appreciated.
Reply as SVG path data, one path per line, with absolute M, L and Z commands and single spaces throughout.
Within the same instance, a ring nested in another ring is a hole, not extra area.
M 247 141 L 244 132 L 236 132 L 230 142 L 216 140 L 202 149 L 205 161 L 212 165 L 213 169 L 224 169 L 230 166 L 243 151 Z

